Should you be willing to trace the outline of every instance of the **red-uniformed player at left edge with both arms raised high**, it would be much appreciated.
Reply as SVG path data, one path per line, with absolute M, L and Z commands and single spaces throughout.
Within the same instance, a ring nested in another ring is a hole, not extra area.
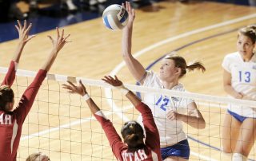
M 30 40 L 30 37 L 28 37 L 28 32 L 31 28 L 31 25 L 26 27 L 26 22 L 24 23 L 24 26 L 22 26 L 18 22 L 18 26 L 16 26 L 16 28 L 20 33 L 20 38 L 21 34 L 25 36 L 25 38 L 22 38 L 22 41 Z M 54 63 L 54 60 L 57 57 L 60 49 L 62 49 L 66 42 L 68 42 L 66 39 L 70 35 L 64 37 L 64 30 L 62 30 L 62 33 L 59 33 L 59 30 L 57 28 L 56 31 L 56 39 L 48 36 L 50 37 L 50 40 L 53 44 L 53 48 L 50 52 L 49 57 L 46 59 L 45 64 L 42 65 L 42 68 L 38 71 L 36 77 L 34 78 L 34 81 L 30 84 L 28 88 L 26 88 L 26 91 L 23 93 L 21 100 L 18 102 L 17 108 L 14 108 L 14 92 L 10 88 L 15 78 L 14 63 L 11 63 L 10 69 L 6 74 L 5 81 L 3 81 L 2 85 L 0 86 L 1 161 L 16 160 L 18 144 L 22 135 L 22 124 L 26 119 L 28 112 L 30 112 L 30 108 L 34 103 L 34 98 L 38 93 L 38 89 L 40 88 L 42 81 L 44 81 L 46 77 L 46 73 L 50 70 L 50 67 Z

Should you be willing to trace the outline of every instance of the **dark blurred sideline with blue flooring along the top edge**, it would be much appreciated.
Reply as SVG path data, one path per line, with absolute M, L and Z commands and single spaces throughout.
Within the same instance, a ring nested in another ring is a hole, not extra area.
M 133 0 L 134 8 L 152 6 L 163 0 Z M 168 0 L 190 5 L 203 0 Z M 214 1 L 214 0 L 211 0 Z M 67 26 L 102 16 L 106 6 L 122 4 L 123 0 L 0 0 L 0 42 L 17 37 L 15 20 L 27 19 L 34 24 L 31 34 Z M 256 0 L 215 0 L 215 2 L 256 6 Z

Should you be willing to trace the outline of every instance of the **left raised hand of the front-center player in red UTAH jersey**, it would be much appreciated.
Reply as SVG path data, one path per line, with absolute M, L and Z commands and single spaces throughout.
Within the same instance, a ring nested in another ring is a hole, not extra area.
M 62 88 L 66 88 L 70 93 L 78 93 L 81 96 L 84 96 L 86 92 L 86 87 L 82 84 L 82 81 L 79 81 L 78 85 L 74 85 L 72 82 L 67 81 L 68 84 L 62 84 Z

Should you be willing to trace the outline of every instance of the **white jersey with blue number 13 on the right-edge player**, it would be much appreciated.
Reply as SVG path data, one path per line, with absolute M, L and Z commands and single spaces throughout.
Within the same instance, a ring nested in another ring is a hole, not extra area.
M 231 86 L 235 91 L 244 95 L 243 100 L 256 100 L 255 54 L 250 61 L 245 62 L 238 52 L 230 53 L 224 58 L 222 67 L 231 74 Z M 240 116 L 256 118 L 256 112 L 248 106 L 229 104 L 228 108 L 231 112 L 235 112 Z

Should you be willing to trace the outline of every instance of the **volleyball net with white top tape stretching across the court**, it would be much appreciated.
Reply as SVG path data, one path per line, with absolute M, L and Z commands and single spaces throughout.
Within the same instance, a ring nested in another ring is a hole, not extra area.
M 0 68 L 1 79 L 7 69 Z M 21 98 L 35 72 L 18 70 L 12 86 L 15 102 Z M 66 81 L 86 85 L 86 90 L 98 107 L 110 119 L 120 134 L 122 124 L 127 120 L 137 120 L 138 112 L 120 91 L 103 81 L 82 77 L 66 77 L 48 74 L 43 82 L 34 105 L 22 128 L 22 138 L 17 160 L 25 160 L 35 151 L 50 156 L 51 160 L 116 160 L 112 154 L 105 133 L 98 121 L 90 113 L 86 101 L 81 96 L 70 94 L 62 88 Z M 198 130 L 183 124 L 190 143 L 190 160 L 231 160 L 223 156 L 222 124 L 226 114 L 226 104 L 240 104 L 255 107 L 255 101 L 236 100 L 222 96 L 209 96 L 192 92 L 177 92 L 166 89 L 146 88 L 125 84 L 133 92 L 150 92 L 162 96 L 190 98 L 198 105 L 206 120 L 206 128 Z M 255 159 L 255 146 L 250 151 L 250 160 Z

